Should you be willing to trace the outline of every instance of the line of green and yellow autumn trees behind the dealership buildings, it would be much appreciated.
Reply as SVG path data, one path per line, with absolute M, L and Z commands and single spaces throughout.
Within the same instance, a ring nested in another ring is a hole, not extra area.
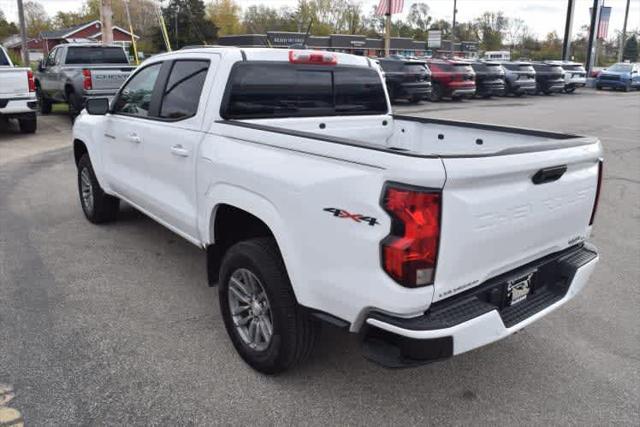
M 358 0 L 298 0 L 294 7 L 275 8 L 262 2 L 244 10 L 235 0 L 169 0 L 160 9 L 173 48 L 193 44 L 212 44 L 220 36 L 232 34 L 263 34 L 267 31 L 304 32 L 311 23 L 314 35 L 363 34 L 382 37 L 384 17 L 374 15 L 375 7 L 364 10 Z M 407 2 L 408 3 L 408 2 Z M 140 50 L 149 53 L 164 50 L 158 24 L 158 3 L 153 0 L 130 0 L 134 32 L 141 36 Z M 30 37 L 41 31 L 66 28 L 99 19 L 100 0 L 85 0 L 76 11 L 58 12 L 49 17 L 35 0 L 26 1 L 25 20 Z M 113 0 L 114 23 L 127 28 L 124 0 Z M 555 32 L 538 39 L 521 18 L 510 18 L 502 12 L 484 12 L 477 18 L 456 24 L 431 15 L 428 2 L 412 3 L 403 19 L 394 19 L 394 37 L 426 40 L 431 30 L 442 31 L 445 40 L 478 42 L 481 50 L 504 50 L 512 56 L 531 59 L 560 58 L 562 40 Z M 8 22 L 0 11 L 0 39 L 17 32 L 15 23 Z M 618 36 L 602 43 L 605 55 L 614 57 Z M 638 30 L 628 35 L 625 57 L 637 59 Z M 584 60 L 588 28 L 581 28 L 573 41 L 576 60 Z M 627 45 L 629 46 L 627 48 Z M 634 48 L 635 46 L 635 48 Z M 607 55 L 608 54 L 608 55 Z

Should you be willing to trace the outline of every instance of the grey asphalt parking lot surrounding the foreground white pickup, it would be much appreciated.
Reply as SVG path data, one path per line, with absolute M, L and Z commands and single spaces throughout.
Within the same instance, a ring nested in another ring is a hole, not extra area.
M 387 370 L 325 328 L 311 360 L 262 376 L 236 355 L 204 253 L 125 209 L 80 210 L 67 117 L 0 128 L 0 384 L 28 425 L 637 425 L 640 94 L 397 105 L 397 112 L 598 136 L 605 178 L 585 291 L 524 331 Z M 0 424 L 2 424 L 0 422 Z

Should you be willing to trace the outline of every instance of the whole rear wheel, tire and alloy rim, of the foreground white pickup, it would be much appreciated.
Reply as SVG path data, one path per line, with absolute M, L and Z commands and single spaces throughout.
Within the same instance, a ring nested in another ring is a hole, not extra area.
M 253 369 L 277 374 L 311 353 L 317 321 L 298 305 L 272 238 L 229 249 L 220 270 L 219 304 L 233 346 Z

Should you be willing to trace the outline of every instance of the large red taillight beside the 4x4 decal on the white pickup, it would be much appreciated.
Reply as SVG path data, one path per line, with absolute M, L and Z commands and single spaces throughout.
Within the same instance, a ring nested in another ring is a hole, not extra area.
M 433 283 L 440 241 L 442 194 L 390 184 L 382 207 L 391 216 L 391 233 L 382 240 L 384 270 L 399 284 L 416 288 Z

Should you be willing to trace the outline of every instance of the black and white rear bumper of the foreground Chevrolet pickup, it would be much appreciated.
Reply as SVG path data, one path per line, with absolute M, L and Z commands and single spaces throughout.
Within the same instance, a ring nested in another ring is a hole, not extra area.
M 361 332 L 364 355 L 383 366 L 408 367 L 498 341 L 572 299 L 585 286 L 597 262 L 595 248 L 574 247 L 436 303 L 417 318 L 372 312 Z M 531 269 L 537 269 L 544 279 L 536 279 L 525 301 L 505 305 L 502 293 L 506 292 L 506 280 Z

